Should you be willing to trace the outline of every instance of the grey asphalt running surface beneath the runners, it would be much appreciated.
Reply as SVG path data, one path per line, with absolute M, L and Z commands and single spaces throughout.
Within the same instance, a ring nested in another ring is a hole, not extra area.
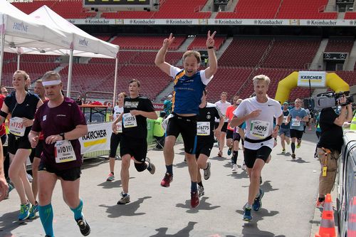
M 151 150 L 147 154 L 156 166 L 154 175 L 138 173 L 131 165 L 131 203 L 125 206 L 116 204 L 122 190 L 120 161 L 116 162 L 115 181 L 108 182 L 108 160 L 85 160 L 80 196 L 92 228 L 90 236 L 310 236 L 320 167 L 313 158 L 315 132 L 307 131 L 303 138 L 302 146 L 296 149 L 297 159 L 281 154 L 280 144 L 273 149 L 272 160 L 262 173 L 263 206 L 252 213 L 249 223 L 242 220 L 248 177 L 241 169 L 241 151 L 239 172 L 232 174 L 227 148 L 220 158 L 214 147 L 211 178 L 203 181 L 205 195 L 197 209 L 190 207 L 190 180 L 182 144 L 175 147 L 174 181 L 169 188 L 159 185 L 165 172 L 162 152 Z M 64 204 L 59 181 L 52 204 L 56 236 L 81 236 L 73 213 Z M 45 236 L 40 218 L 17 221 L 18 212 L 19 196 L 11 191 L 10 199 L 0 203 L 0 236 Z

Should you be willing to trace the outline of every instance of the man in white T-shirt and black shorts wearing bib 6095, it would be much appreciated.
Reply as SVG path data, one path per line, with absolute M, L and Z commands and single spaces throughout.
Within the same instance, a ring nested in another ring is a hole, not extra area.
M 244 221 L 252 220 L 251 209 L 261 209 L 264 194 L 260 189 L 261 171 L 273 149 L 273 137 L 277 137 L 283 121 L 281 104 L 266 96 L 270 81 L 266 75 L 256 75 L 253 78 L 256 96 L 243 100 L 234 111 L 234 118 L 230 122 L 231 127 L 236 127 L 246 121 L 244 159 L 250 186 Z M 275 127 L 273 117 L 277 118 Z

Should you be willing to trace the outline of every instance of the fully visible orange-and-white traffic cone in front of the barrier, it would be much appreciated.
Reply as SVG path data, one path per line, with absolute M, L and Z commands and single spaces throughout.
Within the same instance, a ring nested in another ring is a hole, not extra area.
M 319 233 L 315 237 L 336 237 L 333 204 L 331 195 L 326 194 L 323 214 L 321 215 Z

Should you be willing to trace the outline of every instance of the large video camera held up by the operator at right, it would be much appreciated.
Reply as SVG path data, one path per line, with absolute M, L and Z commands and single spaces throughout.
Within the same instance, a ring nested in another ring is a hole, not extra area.
M 322 110 L 325 107 L 335 107 L 337 105 L 346 106 L 354 102 L 352 95 L 349 95 L 349 91 L 345 92 L 326 92 L 320 93 L 315 98 L 304 99 L 304 107 L 312 110 Z M 346 102 L 340 104 L 339 100 L 345 96 Z

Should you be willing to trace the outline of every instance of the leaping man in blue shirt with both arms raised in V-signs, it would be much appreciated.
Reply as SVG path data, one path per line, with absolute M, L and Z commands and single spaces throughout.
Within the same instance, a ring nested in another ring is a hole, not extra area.
M 206 48 L 209 56 L 209 67 L 205 70 L 198 70 L 201 63 L 200 53 L 197 51 L 187 51 L 183 55 L 183 69 L 176 68 L 164 60 L 169 46 L 173 43 L 172 33 L 169 38 L 165 38 L 163 46 L 157 53 L 155 64 L 167 75 L 174 78 L 174 93 L 172 98 L 172 114 L 167 119 L 166 138 L 164 142 L 164 161 L 167 172 L 161 181 L 161 186 L 168 187 L 173 180 L 172 164 L 174 159 L 174 143 L 182 133 L 184 141 L 184 152 L 191 185 L 191 206 L 199 205 L 197 191 L 197 160 L 195 159 L 195 149 L 197 147 L 197 115 L 199 114 L 199 104 L 203 90 L 213 78 L 217 70 L 217 60 L 214 52 L 214 33 L 206 38 Z

